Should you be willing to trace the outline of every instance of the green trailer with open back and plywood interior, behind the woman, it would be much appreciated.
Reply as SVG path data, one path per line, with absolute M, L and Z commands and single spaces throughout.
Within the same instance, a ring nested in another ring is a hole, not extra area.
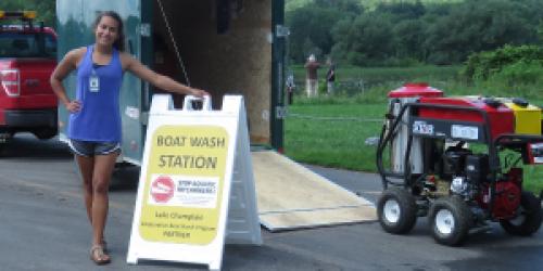
M 117 12 L 125 24 L 126 51 L 153 70 L 212 94 L 242 94 L 251 144 L 282 149 L 283 63 L 287 28 L 283 0 L 58 0 L 59 59 L 92 44 L 93 21 Z M 176 53 L 178 52 L 178 53 Z M 76 74 L 65 80 L 75 96 Z M 161 90 L 127 73 L 121 90 L 122 160 L 139 165 L 151 99 Z M 175 96 L 181 105 L 182 96 Z M 59 108 L 61 140 L 67 112 Z

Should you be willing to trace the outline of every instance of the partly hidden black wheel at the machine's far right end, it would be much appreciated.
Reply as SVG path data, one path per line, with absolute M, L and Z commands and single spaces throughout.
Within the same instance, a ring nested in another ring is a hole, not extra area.
M 500 224 L 509 234 L 529 236 L 541 227 L 542 209 L 540 199 L 530 192 L 522 192 L 519 208 L 516 218 L 500 220 Z

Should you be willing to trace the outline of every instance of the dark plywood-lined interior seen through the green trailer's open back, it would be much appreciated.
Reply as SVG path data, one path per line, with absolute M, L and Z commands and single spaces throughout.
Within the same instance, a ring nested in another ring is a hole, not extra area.
M 273 144 L 277 125 L 273 122 L 275 107 L 281 100 L 277 95 L 281 83 L 275 83 L 274 78 L 280 78 L 282 67 L 274 63 L 278 59 L 282 65 L 283 55 L 273 55 L 273 47 L 275 17 L 282 14 L 283 1 L 142 2 L 146 5 L 142 17 L 152 17 L 153 47 L 148 48 L 152 51 L 143 52 L 152 55 L 152 63 L 147 64 L 176 80 L 207 90 L 216 109 L 222 107 L 224 94 L 242 94 L 251 143 L 277 147 Z M 278 12 L 274 12 L 276 9 Z M 181 96 L 174 98 L 176 106 L 180 106 L 181 100 Z M 278 132 L 282 138 L 282 129 Z

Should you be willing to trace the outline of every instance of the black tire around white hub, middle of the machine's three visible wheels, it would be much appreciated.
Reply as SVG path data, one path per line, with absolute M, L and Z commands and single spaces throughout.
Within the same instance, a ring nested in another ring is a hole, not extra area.
M 435 217 L 442 209 L 451 211 L 454 219 L 454 227 L 451 233 L 440 232 Z M 430 227 L 432 236 L 439 244 L 447 246 L 458 246 L 467 237 L 469 229 L 473 222 L 473 215 L 468 205 L 458 196 L 447 196 L 435 199 L 430 208 Z

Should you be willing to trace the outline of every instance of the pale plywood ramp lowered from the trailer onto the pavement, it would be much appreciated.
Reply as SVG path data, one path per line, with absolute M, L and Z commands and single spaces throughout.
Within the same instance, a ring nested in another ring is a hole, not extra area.
M 252 152 L 258 216 L 269 231 L 375 221 L 375 206 L 273 151 Z

